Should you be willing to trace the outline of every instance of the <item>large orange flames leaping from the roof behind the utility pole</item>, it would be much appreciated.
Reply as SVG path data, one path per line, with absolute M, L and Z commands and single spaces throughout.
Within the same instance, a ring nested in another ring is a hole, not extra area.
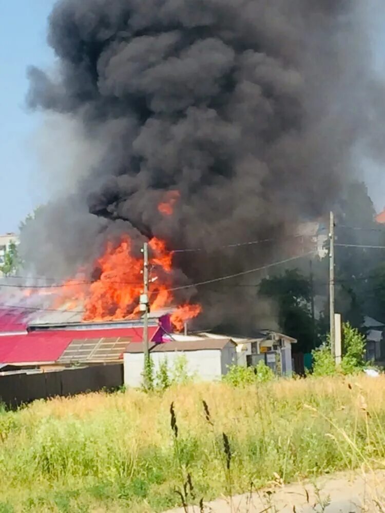
M 172 288 L 172 251 L 164 241 L 149 241 L 149 302 L 150 311 L 172 307 L 175 298 Z M 132 253 L 132 241 L 122 237 L 118 246 L 108 243 L 104 254 L 94 264 L 99 278 L 93 282 L 79 274 L 76 279 L 51 289 L 56 294 L 54 308 L 79 308 L 83 305 L 84 321 L 112 321 L 136 317 L 139 314 L 139 298 L 143 292 L 143 258 Z M 171 315 L 177 330 L 184 323 L 197 317 L 199 305 L 183 305 Z

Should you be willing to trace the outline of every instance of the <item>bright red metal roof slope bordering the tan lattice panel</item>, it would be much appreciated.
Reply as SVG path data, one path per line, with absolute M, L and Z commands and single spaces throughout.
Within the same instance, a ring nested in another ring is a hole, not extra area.
M 148 328 L 148 338 L 150 341 L 156 338 L 158 330 L 161 330 L 159 326 Z M 0 337 L 0 362 L 56 362 L 72 340 L 95 339 L 98 337 L 128 337 L 131 339 L 131 342 L 142 342 L 143 328 L 32 331 L 23 335 L 6 335 Z

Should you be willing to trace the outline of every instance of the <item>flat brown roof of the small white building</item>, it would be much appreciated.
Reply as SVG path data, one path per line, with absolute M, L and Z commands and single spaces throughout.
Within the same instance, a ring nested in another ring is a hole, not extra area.
M 150 352 L 174 352 L 174 351 L 203 351 L 212 349 L 223 349 L 227 345 L 236 346 L 230 339 L 195 339 L 185 342 L 171 340 L 164 344 L 150 344 Z M 126 351 L 128 353 L 143 352 L 143 344 L 129 344 Z

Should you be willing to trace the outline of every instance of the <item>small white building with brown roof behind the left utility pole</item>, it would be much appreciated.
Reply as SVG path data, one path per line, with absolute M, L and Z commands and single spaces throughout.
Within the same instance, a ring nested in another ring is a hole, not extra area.
M 169 367 L 174 367 L 183 354 L 186 371 L 202 381 L 220 380 L 227 373 L 228 366 L 237 363 L 237 345 L 230 339 L 191 339 L 171 340 L 163 344 L 150 344 L 149 347 L 154 372 L 167 359 Z M 123 355 L 124 384 L 140 387 L 143 383 L 144 354 L 142 343 L 130 343 Z

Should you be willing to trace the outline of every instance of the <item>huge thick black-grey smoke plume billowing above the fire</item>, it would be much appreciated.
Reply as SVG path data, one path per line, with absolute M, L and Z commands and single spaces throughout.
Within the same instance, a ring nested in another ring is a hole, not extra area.
M 338 199 L 353 151 L 380 151 L 368 12 L 359 0 L 57 2 L 57 68 L 29 70 L 28 102 L 80 124 L 98 159 L 25 230 L 31 266 L 68 275 L 122 232 L 206 249 L 178 256 L 192 281 L 282 257 L 298 220 Z M 219 249 L 267 237 L 278 242 Z M 200 288 L 207 322 L 253 323 L 243 290 Z

